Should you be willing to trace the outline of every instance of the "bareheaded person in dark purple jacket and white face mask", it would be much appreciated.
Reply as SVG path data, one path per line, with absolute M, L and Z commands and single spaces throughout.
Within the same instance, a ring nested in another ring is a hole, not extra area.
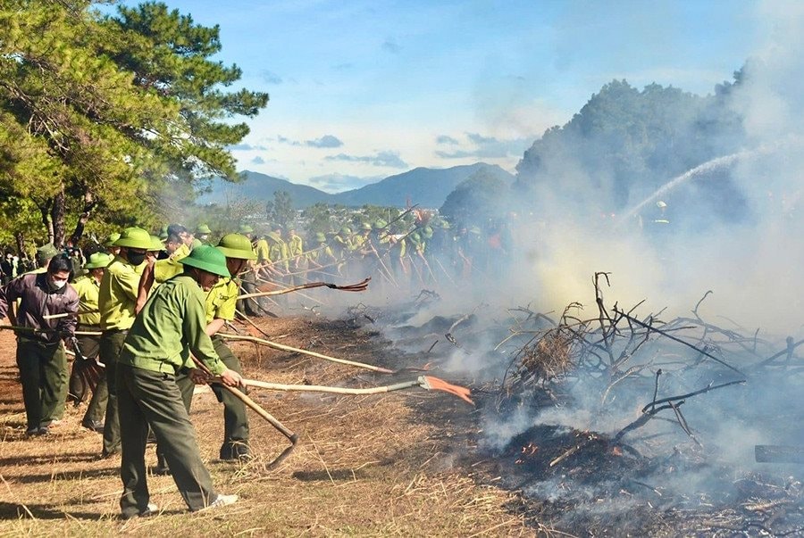
M 71 262 L 54 256 L 45 273 L 30 273 L 0 288 L 0 319 L 17 333 L 17 366 L 28 422 L 27 435 L 46 435 L 61 420 L 67 398 L 67 356 L 63 339 L 75 332 L 79 297 L 68 285 Z M 14 302 L 20 300 L 19 307 Z M 58 314 L 66 316 L 53 317 Z

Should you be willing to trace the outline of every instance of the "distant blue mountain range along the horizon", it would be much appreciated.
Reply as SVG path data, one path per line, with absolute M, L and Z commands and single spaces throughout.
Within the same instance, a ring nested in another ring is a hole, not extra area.
M 287 191 L 297 209 L 314 203 L 404 207 L 408 200 L 410 203 L 418 203 L 421 207 L 439 208 L 459 183 L 481 170 L 502 179 L 509 185 L 514 182 L 514 176 L 497 165 L 477 162 L 448 169 L 416 168 L 371 185 L 331 195 L 312 186 L 297 185 L 286 179 L 272 178 L 246 170 L 245 178 L 238 183 L 214 179 L 211 191 L 199 196 L 197 203 L 225 203 L 227 200 L 242 198 L 267 202 L 273 199 L 275 191 Z

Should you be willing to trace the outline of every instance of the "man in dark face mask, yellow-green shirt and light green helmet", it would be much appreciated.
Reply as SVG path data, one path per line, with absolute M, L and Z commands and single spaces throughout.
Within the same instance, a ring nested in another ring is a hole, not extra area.
M 117 413 L 117 389 L 115 372 L 122 343 L 137 315 L 139 278 L 151 249 L 151 236 L 142 228 L 126 228 L 114 242 L 120 252 L 106 267 L 97 294 L 100 326 L 100 361 L 105 366 L 106 401 L 104 422 L 104 447 L 101 452 L 107 458 L 120 452 L 120 418 Z

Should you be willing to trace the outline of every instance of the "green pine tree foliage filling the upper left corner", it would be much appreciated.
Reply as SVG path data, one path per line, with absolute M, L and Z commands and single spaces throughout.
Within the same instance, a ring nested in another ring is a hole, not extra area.
M 248 129 L 231 118 L 254 116 L 268 96 L 223 89 L 240 70 L 210 60 L 218 33 L 164 4 L 103 15 L 87 0 L 6 0 L 0 195 L 29 201 L 0 208 L 25 211 L 4 213 L 9 231 L 38 217 L 61 244 L 93 214 L 148 226 L 191 199 L 198 178 L 234 178 L 226 148 Z

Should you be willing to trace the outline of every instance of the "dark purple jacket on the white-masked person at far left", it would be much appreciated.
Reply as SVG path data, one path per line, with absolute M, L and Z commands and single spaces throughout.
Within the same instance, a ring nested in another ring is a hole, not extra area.
M 10 302 L 20 299 L 17 326 L 45 329 L 45 333 L 21 332 L 25 338 L 58 343 L 60 332 L 72 333 L 77 324 L 79 297 L 69 284 L 51 291 L 47 286 L 47 273 L 31 273 L 14 278 L 0 288 L 0 319 L 4 319 Z M 70 314 L 63 318 L 44 319 L 53 314 Z

